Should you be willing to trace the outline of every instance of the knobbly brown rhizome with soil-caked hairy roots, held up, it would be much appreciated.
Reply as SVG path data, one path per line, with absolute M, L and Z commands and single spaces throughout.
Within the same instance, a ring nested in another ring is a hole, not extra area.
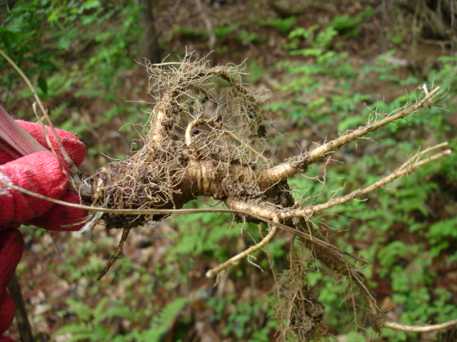
M 370 187 L 323 204 L 296 203 L 287 179 L 298 173 L 304 174 L 309 165 L 338 147 L 429 106 L 438 89 L 424 89 L 422 100 L 409 103 L 398 113 L 373 113 L 373 120 L 366 126 L 273 165 L 262 154 L 266 139 L 271 135 L 271 118 L 263 108 L 266 94 L 254 93 L 243 85 L 241 72 L 236 66 L 210 67 L 205 61 L 190 59 L 191 56 L 186 56 L 179 63 L 146 63 L 150 75 L 149 91 L 156 105 L 145 125 L 144 147 L 133 157 L 102 167 L 90 179 L 92 198 L 89 202 L 93 207 L 139 212 L 109 212 L 101 216 L 107 228 L 124 229 L 119 249 L 104 272 L 118 257 L 131 228 L 151 220 L 159 221 L 169 215 L 165 209 L 181 209 L 191 199 L 212 197 L 232 209 L 233 219 L 237 222 L 267 222 L 269 232 L 258 245 L 209 271 L 208 276 L 217 274 L 237 258 L 246 257 L 268 243 L 276 229 L 284 229 L 298 237 L 301 248 L 311 251 L 308 256 L 320 260 L 328 269 L 354 284 L 366 303 L 368 318 L 376 331 L 387 326 L 389 318 L 376 306 L 368 281 L 353 259 L 365 261 L 323 241 L 321 232 L 308 224 L 308 217 L 366 195 L 425 162 L 447 155 L 449 151 L 418 160 L 426 152 L 437 150 L 444 144 L 430 147 Z M 216 83 L 225 83 L 224 93 L 215 95 Z M 148 213 L 148 209 L 159 209 L 159 212 Z M 161 214 L 160 210 L 164 212 Z M 306 282 L 306 272 L 301 266 L 306 261 L 291 257 L 290 262 L 290 281 L 284 281 L 279 291 L 280 295 L 288 294 L 282 296 L 286 303 L 281 305 L 278 313 L 281 321 L 286 322 L 282 329 L 283 338 L 293 333 L 308 340 L 315 335 L 323 306 L 318 303 L 316 290 Z

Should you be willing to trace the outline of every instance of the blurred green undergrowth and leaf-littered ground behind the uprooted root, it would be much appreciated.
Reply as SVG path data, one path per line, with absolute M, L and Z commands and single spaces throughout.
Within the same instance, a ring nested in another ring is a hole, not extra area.
M 137 149 L 136 125 L 146 122 L 152 105 L 147 102 L 153 100 L 146 94 L 139 56 L 144 7 L 133 1 L 15 2 L 9 7 L 0 1 L 1 48 L 34 81 L 54 124 L 79 133 L 86 143 L 84 169 L 91 172 Z M 373 38 L 378 1 L 344 7 L 347 13 L 312 8 L 308 15 L 283 18 L 266 1 L 227 2 L 220 9 L 208 7 L 216 36 L 209 58 L 219 63 L 247 58 L 246 82 L 273 92 L 268 107 L 278 134 L 266 152 L 277 160 L 363 125 L 375 108 L 391 113 L 421 97 L 423 83 L 445 91 L 439 108 L 388 125 L 371 135 L 376 142 L 363 140 L 339 151 L 318 200 L 370 184 L 419 147 L 443 141 L 456 147 L 456 57 L 443 50 L 420 72 L 409 70 L 403 63 L 411 57 L 405 22 L 393 21 Z M 209 52 L 209 33 L 193 4 L 154 2 L 166 61 L 182 58 L 186 49 L 195 49 L 195 56 Z M 398 19 L 401 10 L 393 6 Z M 238 8 L 235 13 L 243 15 L 231 16 Z M 376 44 L 381 39 L 383 51 Z M 2 105 L 17 118 L 34 120 L 30 91 L 5 61 L 0 68 Z M 310 178 L 291 180 L 298 197 L 320 192 L 313 177 L 322 172 L 317 165 Z M 328 229 L 333 244 L 371 261 L 366 273 L 379 306 L 403 323 L 439 323 L 457 316 L 456 198 L 452 155 L 314 223 Z M 294 244 L 287 234 L 278 234 L 268 246 L 275 275 L 266 253 L 258 252 L 214 286 L 205 271 L 258 241 L 258 227 L 232 227 L 229 217 L 210 214 L 141 227 L 127 242 L 124 259 L 99 282 L 96 276 L 119 232 L 100 231 L 93 241 L 31 228 L 24 232 L 28 250 L 19 274 L 37 341 L 274 341 L 275 276 L 287 276 Z M 351 284 L 303 258 L 308 281 L 326 306 L 324 341 L 426 338 L 392 331 L 373 336 L 361 302 L 350 299 Z M 446 333 L 431 338 L 452 332 Z M 11 336 L 18 337 L 15 328 Z

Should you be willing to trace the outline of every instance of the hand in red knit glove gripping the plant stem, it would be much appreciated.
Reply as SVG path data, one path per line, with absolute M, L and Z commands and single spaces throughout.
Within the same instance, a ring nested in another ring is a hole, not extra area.
M 16 122 L 41 145 L 47 147 L 41 125 L 25 121 Z M 83 142 L 69 132 L 58 129 L 56 131 L 71 160 L 79 166 L 86 153 Z M 50 128 L 48 132 L 61 162 L 49 151 L 35 152 L 14 159 L 11 157 L 14 153 L 11 153 L 10 149 L 2 150 L 0 147 L 0 180 L 46 197 L 80 203 L 79 196 L 68 190 L 69 180 L 61 166 L 64 165 L 69 173 L 68 165 Z M 2 145 L 7 144 L 4 142 Z M 1 336 L 1 333 L 11 326 L 14 318 L 14 304 L 6 291 L 6 285 L 24 251 L 24 239 L 16 228 L 26 224 L 49 230 L 75 231 L 81 228 L 81 222 L 86 215 L 85 210 L 54 204 L 0 184 L 0 342 L 9 341 Z

